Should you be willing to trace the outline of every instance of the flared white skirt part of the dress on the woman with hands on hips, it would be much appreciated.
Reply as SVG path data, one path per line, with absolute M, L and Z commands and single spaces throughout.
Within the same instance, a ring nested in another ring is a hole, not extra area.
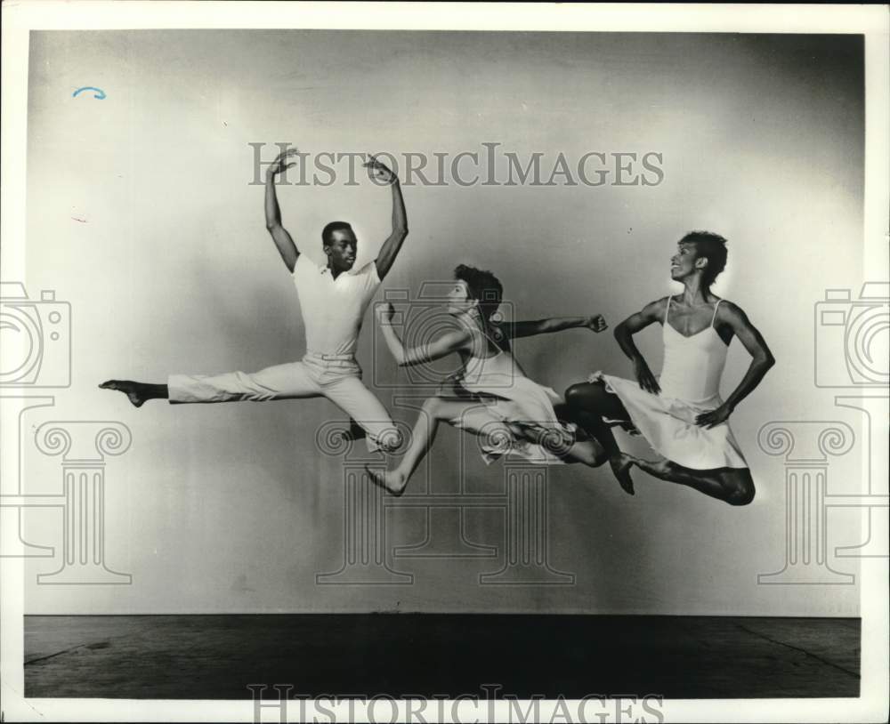
M 716 398 L 708 406 L 693 405 L 683 399 L 653 395 L 638 382 L 597 372 L 590 382 L 603 382 L 617 395 L 630 414 L 638 432 L 656 453 L 691 470 L 747 468 L 739 443 L 728 422 L 713 428 L 695 424 L 695 418 L 723 404 Z

